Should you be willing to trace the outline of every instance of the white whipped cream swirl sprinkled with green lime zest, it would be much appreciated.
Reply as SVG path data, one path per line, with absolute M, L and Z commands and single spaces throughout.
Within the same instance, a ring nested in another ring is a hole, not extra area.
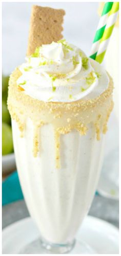
M 72 102 L 97 97 L 108 87 L 105 69 L 66 40 L 36 48 L 19 66 L 17 86 L 42 101 Z

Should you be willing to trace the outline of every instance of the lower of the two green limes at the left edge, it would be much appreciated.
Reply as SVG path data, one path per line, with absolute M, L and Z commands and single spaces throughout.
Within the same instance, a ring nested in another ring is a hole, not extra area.
M 13 152 L 12 129 L 7 123 L 2 123 L 2 155 Z

